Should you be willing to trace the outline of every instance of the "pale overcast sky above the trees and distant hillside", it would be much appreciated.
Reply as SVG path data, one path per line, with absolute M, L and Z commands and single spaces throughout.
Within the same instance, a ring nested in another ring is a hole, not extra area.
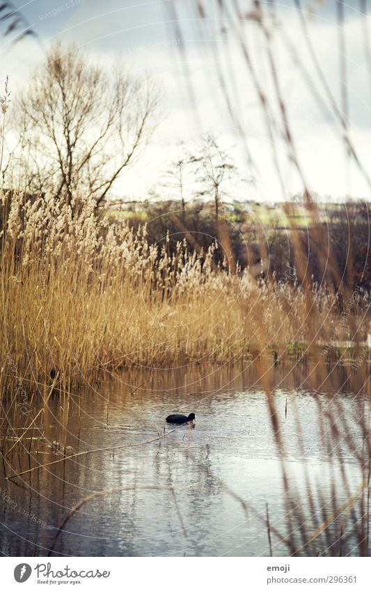
M 9 74 L 13 94 L 25 83 L 32 68 L 42 67 L 45 49 L 56 39 L 73 40 L 86 49 L 88 58 L 111 63 L 118 55 L 136 72 L 150 72 L 164 88 L 164 119 L 143 159 L 125 174 L 116 194 L 145 197 L 177 143 L 193 145 L 200 134 L 212 132 L 235 157 L 246 184 L 240 198 L 288 198 L 300 191 L 302 181 L 290 161 L 280 136 L 284 131 L 269 65 L 267 40 L 254 22 L 251 3 L 240 0 L 242 26 L 221 19 L 216 2 L 205 0 L 207 18 L 200 19 L 196 0 L 175 1 L 177 24 L 171 0 L 33 0 L 15 6 L 22 11 L 41 43 L 29 38 L 11 46 L 0 43 L 0 79 Z M 267 3 L 265 3 L 267 6 Z M 340 79 L 340 28 L 336 2 L 304 3 L 305 17 L 324 79 L 335 109 L 342 109 Z M 360 2 L 345 5 L 345 67 L 349 102 L 349 133 L 364 170 L 370 167 L 371 79 L 365 26 L 369 17 L 358 12 Z M 5 25 L 1 25 L 3 28 Z M 308 51 L 299 14 L 291 1 L 276 2 L 276 26 L 271 48 L 281 96 L 293 134 L 296 154 L 310 189 L 333 198 L 352 194 L 370 198 L 363 171 L 354 166 L 345 150 L 338 120 L 333 114 L 326 88 Z M 283 34 L 284 33 L 284 34 Z M 291 44 L 294 54 L 290 50 Z M 263 113 L 257 89 L 248 72 L 242 43 L 251 57 L 258 84 L 269 102 Z M 184 52 L 181 48 L 184 44 Z M 295 55 L 301 68 L 295 63 Z M 221 80 L 222 83 L 221 84 Z M 226 104 L 230 98 L 233 117 Z M 344 96 L 344 95 L 343 95 Z M 275 150 L 267 132 L 276 121 Z M 252 162 L 249 161 L 252 158 Z M 283 189 L 274 163 L 276 157 Z

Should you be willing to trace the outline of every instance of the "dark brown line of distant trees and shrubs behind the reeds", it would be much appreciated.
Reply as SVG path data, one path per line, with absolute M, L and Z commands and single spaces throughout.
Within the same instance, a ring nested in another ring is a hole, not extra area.
M 340 285 L 371 289 L 371 204 L 350 201 L 331 206 L 326 219 L 319 216 L 316 223 L 287 228 L 274 222 L 263 225 L 246 209 L 228 205 L 218 216 L 226 221 L 237 269 L 248 268 L 263 281 L 305 280 L 336 290 Z M 212 203 L 201 200 L 186 210 L 179 201 L 148 200 L 141 211 L 129 212 L 132 226 L 137 228 L 145 221 L 149 242 L 166 246 L 169 253 L 175 252 L 177 242 L 183 239 L 191 250 L 206 251 L 219 241 L 218 219 Z M 216 262 L 223 265 L 226 254 L 219 244 Z

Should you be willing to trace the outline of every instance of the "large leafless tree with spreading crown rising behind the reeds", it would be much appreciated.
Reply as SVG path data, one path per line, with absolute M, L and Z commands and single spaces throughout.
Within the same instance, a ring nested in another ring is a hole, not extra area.
M 32 189 L 71 203 L 78 187 L 102 203 L 148 141 L 159 98 L 150 79 L 119 66 L 109 72 L 74 45 L 54 45 L 17 104 Z

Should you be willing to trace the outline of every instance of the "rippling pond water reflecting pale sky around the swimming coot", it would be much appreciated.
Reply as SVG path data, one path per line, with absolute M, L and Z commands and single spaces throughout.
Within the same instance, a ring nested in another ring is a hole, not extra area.
M 368 397 L 347 391 L 344 368 L 321 388 L 312 375 L 270 370 L 273 417 L 253 366 L 124 370 L 69 404 L 52 395 L 40 430 L 3 459 L 1 553 L 45 556 L 53 543 L 52 555 L 75 556 L 359 553 L 360 515 L 345 505 L 361 484 Z M 195 427 L 166 425 L 177 411 L 195 412 Z M 8 445 L 20 433 L 8 430 Z M 55 540 L 72 507 L 102 490 Z

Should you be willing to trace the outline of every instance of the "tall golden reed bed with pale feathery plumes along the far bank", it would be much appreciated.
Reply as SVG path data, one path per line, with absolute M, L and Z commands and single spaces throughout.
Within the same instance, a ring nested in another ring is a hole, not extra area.
M 122 365 L 364 354 L 368 296 L 256 280 L 216 249 L 148 244 L 84 200 L 2 199 L 1 394 Z M 219 260 L 223 256 L 219 253 Z M 237 269 L 238 271 L 238 269 Z M 340 306 L 341 303 L 341 306 Z M 358 346 L 342 351 L 341 343 Z

